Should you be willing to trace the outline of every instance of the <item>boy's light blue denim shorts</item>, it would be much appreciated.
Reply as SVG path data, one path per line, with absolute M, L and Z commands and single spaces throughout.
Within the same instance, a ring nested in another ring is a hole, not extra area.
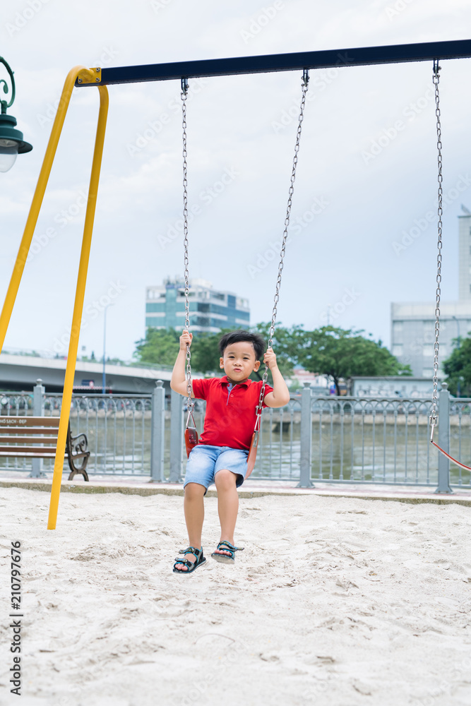
M 187 483 L 199 483 L 208 486 L 214 483 L 217 471 L 227 468 L 237 475 L 236 487 L 242 486 L 247 472 L 247 456 L 249 451 L 243 448 L 230 448 L 230 446 L 210 446 L 198 444 L 193 449 L 186 463 L 184 487 Z

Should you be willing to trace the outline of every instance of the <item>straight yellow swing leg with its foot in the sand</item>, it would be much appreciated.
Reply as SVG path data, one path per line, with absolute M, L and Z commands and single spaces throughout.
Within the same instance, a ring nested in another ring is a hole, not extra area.
M 83 313 L 83 299 L 85 298 L 85 282 L 87 280 L 88 260 L 90 258 L 90 245 L 92 241 L 93 220 L 97 203 L 98 183 L 100 181 L 100 167 L 102 163 L 103 143 L 108 113 L 108 90 L 106 86 L 98 86 L 100 91 L 100 114 L 98 116 L 97 136 L 95 151 L 93 152 L 92 173 L 90 176 L 90 189 L 88 191 L 85 225 L 83 227 L 83 240 L 80 264 L 78 265 L 76 299 L 73 305 L 71 340 L 68 345 L 66 377 L 64 392 L 62 393 L 61 418 L 59 420 L 59 434 L 57 436 L 56 460 L 54 462 L 54 476 L 52 477 L 51 501 L 49 504 L 48 530 L 56 529 L 57 509 L 59 508 L 59 495 L 61 493 L 62 469 L 64 467 L 64 453 L 66 450 L 66 437 L 68 417 L 71 411 L 73 376 L 76 370 L 78 336 Z

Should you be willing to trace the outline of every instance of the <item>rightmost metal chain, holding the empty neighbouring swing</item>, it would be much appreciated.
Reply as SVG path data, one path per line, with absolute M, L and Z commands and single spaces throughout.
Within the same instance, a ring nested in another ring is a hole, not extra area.
M 436 304 L 435 304 L 435 343 L 434 343 L 434 393 L 432 395 L 431 402 L 431 415 L 430 415 L 430 426 L 431 426 L 431 437 L 430 441 L 434 438 L 434 426 L 438 421 L 438 416 L 436 413 L 437 404 L 437 388 L 438 388 L 438 375 L 439 375 L 439 334 L 440 334 L 440 295 L 441 295 L 441 233 L 442 233 L 442 222 L 441 217 L 443 215 L 443 176 L 441 174 L 442 160 L 441 160 L 441 122 L 440 122 L 440 95 L 439 95 L 439 80 L 440 80 L 440 66 L 439 60 L 434 59 L 434 86 L 435 86 L 435 115 L 436 115 L 436 148 L 438 150 L 438 232 L 439 239 L 437 244 L 438 254 L 436 257 Z

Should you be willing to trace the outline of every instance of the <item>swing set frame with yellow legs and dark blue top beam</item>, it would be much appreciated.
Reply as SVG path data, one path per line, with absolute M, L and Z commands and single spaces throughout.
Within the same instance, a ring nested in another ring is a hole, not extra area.
M 317 68 L 338 68 L 339 66 L 370 66 L 378 64 L 402 64 L 418 61 L 443 61 L 446 59 L 470 59 L 471 40 L 449 42 L 424 42 L 419 44 L 393 44 L 385 47 L 359 47 L 357 49 L 330 49 L 320 52 L 297 52 L 292 54 L 267 54 L 263 56 L 241 56 L 233 59 L 208 59 L 204 61 L 181 61 L 168 64 L 148 64 L 143 66 L 122 66 L 117 68 L 87 68 L 75 66 L 68 72 L 59 100 L 51 136 L 37 179 L 18 256 L 13 265 L 13 273 L 8 285 L 4 306 L 0 315 L 0 350 L 4 345 L 8 323 L 20 287 L 26 258 L 40 214 L 44 192 L 54 163 L 57 145 L 66 118 L 72 90 L 95 86 L 100 94 L 95 149 L 93 152 L 90 186 L 88 190 L 81 256 L 78 265 L 76 296 L 73 306 L 71 337 L 68 346 L 66 374 L 62 396 L 59 433 L 54 462 L 51 499 L 49 504 L 48 530 L 56 528 L 59 496 L 61 491 L 62 466 L 66 447 L 68 418 L 70 415 L 73 377 L 76 369 L 78 337 L 80 334 L 85 283 L 90 259 L 90 245 L 100 181 L 103 145 L 107 124 L 109 97 L 107 85 L 121 83 L 142 83 L 159 80 L 179 80 L 208 78 L 212 76 L 237 76 L 250 73 L 272 73 L 278 71 L 306 71 Z

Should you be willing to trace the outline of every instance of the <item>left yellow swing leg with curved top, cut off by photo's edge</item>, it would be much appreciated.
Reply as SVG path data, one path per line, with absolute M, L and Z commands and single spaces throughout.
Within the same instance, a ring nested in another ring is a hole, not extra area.
M 57 144 L 59 143 L 59 138 L 61 136 L 68 104 L 71 100 L 73 84 L 76 82 L 76 78 L 79 75 L 89 78 L 89 80 L 95 78 L 95 73 L 90 68 L 85 68 L 85 66 L 74 66 L 74 68 L 72 68 L 67 74 L 64 88 L 61 93 L 61 100 L 59 101 L 59 107 L 57 108 L 54 124 L 52 125 L 51 136 L 49 138 L 49 142 L 47 143 L 46 154 L 44 155 L 44 160 L 42 162 L 40 176 L 37 179 L 36 190 L 34 196 L 32 197 L 30 213 L 28 214 L 28 219 L 26 220 L 23 238 L 20 242 L 15 265 L 13 265 L 13 273 L 11 274 L 11 280 L 6 292 L 4 306 L 0 314 L 0 351 L 4 347 L 6 330 L 8 329 L 8 323 L 10 323 L 11 312 L 13 311 L 16 295 L 18 294 L 18 288 L 20 287 L 21 277 L 23 276 L 23 270 L 25 269 L 26 258 L 28 257 L 28 253 L 30 251 L 32 236 L 35 232 L 37 223 L 37 217 L 40 215 L 44 191 L 46 191 L 47 182 L 49 181 L 49 174 L 51 173 L 52 163 L 54 162 Z

